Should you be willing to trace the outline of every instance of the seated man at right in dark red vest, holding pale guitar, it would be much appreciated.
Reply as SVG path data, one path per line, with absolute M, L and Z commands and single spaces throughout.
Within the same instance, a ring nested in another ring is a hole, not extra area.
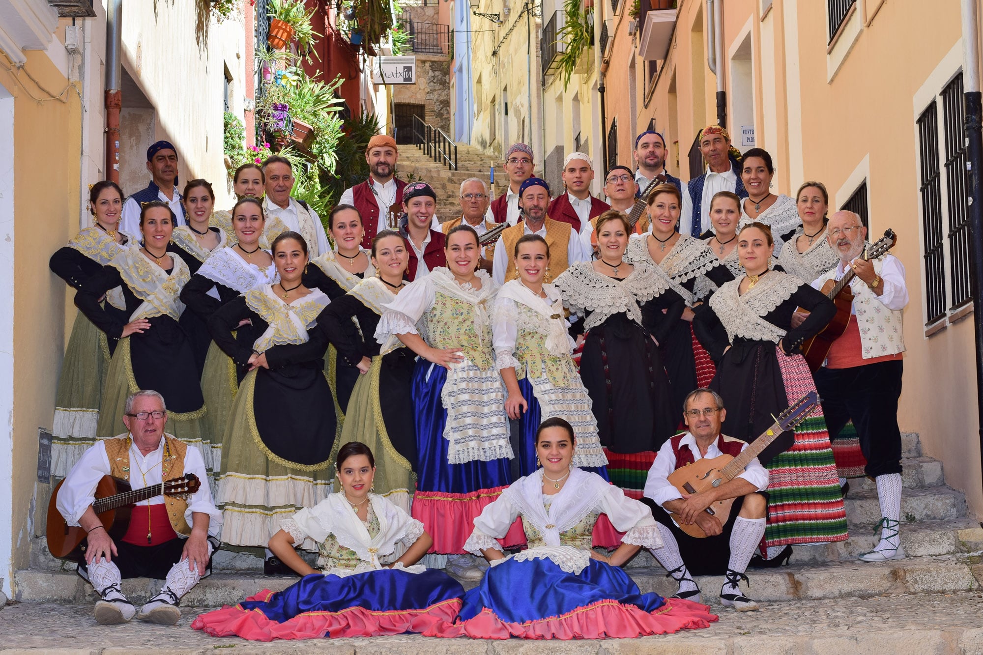
M 726 418 L 723 398 L 709 388 L 690 391 L 683 402 L 682 419 L 688 432 L 663 444 L 645 481 L 642 502 L 652 508 L 659 522 L 663 547 L 652 554 L 679 583 L 673 598 L 700 602 L 700 588 L 692 575 L 724 575 L 721 603 L 738 612 L 758 609 L 758 604 L 740 590 L 747 580 L 744 571 L 765 534 L 768 499 L 761 494 L 768 487 L 768 470 L 755 457 L 744 471 L 719 487 L 699 494 L 684 495 L 673 487 L 668 476 L 698 459 L 736 457 L 747 444 L 721 434 Z M 728 516 L 711 514 L 707 507 L 734 499 Z M 678 516 L 673 520 L 669 513 Z M 707 535 L 702 539 L 686 534 L 676 523 L 699 525 Z

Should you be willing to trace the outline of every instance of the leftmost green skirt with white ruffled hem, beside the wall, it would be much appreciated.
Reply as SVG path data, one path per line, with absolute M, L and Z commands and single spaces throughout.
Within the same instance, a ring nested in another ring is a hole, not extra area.
M 96 439 L 102 387 L 109 369 L 106 333 L 79 312 L 65 349 L 51 428 L 51 474 L 68 475 Z

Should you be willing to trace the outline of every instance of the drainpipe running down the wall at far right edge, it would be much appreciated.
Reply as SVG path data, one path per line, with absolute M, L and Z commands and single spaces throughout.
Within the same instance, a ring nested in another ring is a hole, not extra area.
M 969 228 L 973 256 L 973 331 L 976 335 L 976 418 L 979 422 L 980 469 L 983 471 L 983 140 L 979 80 L 979 31 L 976 29 L 976 0 L 961 0 L 962 84 L 965 99 L 966 183 Z M 983 479 L 981 479 L 983 484 Z

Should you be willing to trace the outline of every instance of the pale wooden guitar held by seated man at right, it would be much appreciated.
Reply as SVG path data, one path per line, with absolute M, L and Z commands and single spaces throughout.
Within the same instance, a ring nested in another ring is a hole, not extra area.
M 699 494 L 715 487 L 720 487 L 724 482 L 733 480 L 744 470 L 748 462 L 757 457 L 762 450 L 771 446 L 772 442 L 781 437 L 781 434 L 791 430 L 796 425 L 806 419 L 810 412 L 819 405 L 819 393 L 809 391 L 799 398 L 795 403 L 781 412 L 775 423 L 771 425 L 758 439 L 754 440 L 748 447 L 744 448 L 736 457 L 722 454 L 712 459 L 703 458 L 677 468 L 667 478 L 669 484 L 679 490 L 682 494 Z M 728 498 L 718 501 L 707 507 L 707 513 L 717 516 L 721 525 L 727 522 L 730 515 L 730 507 L 733 506 L 734 499 Z M 679 514 L 670 514 L 679 528 L 691 537 L 703 538 L 707 534 L 698 523 L 685 525 Z

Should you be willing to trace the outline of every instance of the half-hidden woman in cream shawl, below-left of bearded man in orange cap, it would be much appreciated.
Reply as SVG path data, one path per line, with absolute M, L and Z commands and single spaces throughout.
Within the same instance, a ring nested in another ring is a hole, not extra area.
M 304 283 L 311 288 L 318 287 L 328 298 L 335 300 L 354 289 L 363 279 L 375 275 L 376 267 L 372 264 L 369 251 L 361 247 L 365 230 L 362 228 L 362 216 L 358 209 L 351 205 L 332 208 L 327 214 L 327 229 L 331 233 L 335 250 L 329 250 L 311 260 L 314 266 L 309 267 L 305 273 Z M 371 334 L 369 338 L 372 338 Z M 338 414 L 338 420 L 343 421 L 348 413 L 352 389 L 359 379 L 359 369 L 344 359 L 339 359 L 332 342 L 324 357 L 324 373 L 331 386 L 334 410 Z

